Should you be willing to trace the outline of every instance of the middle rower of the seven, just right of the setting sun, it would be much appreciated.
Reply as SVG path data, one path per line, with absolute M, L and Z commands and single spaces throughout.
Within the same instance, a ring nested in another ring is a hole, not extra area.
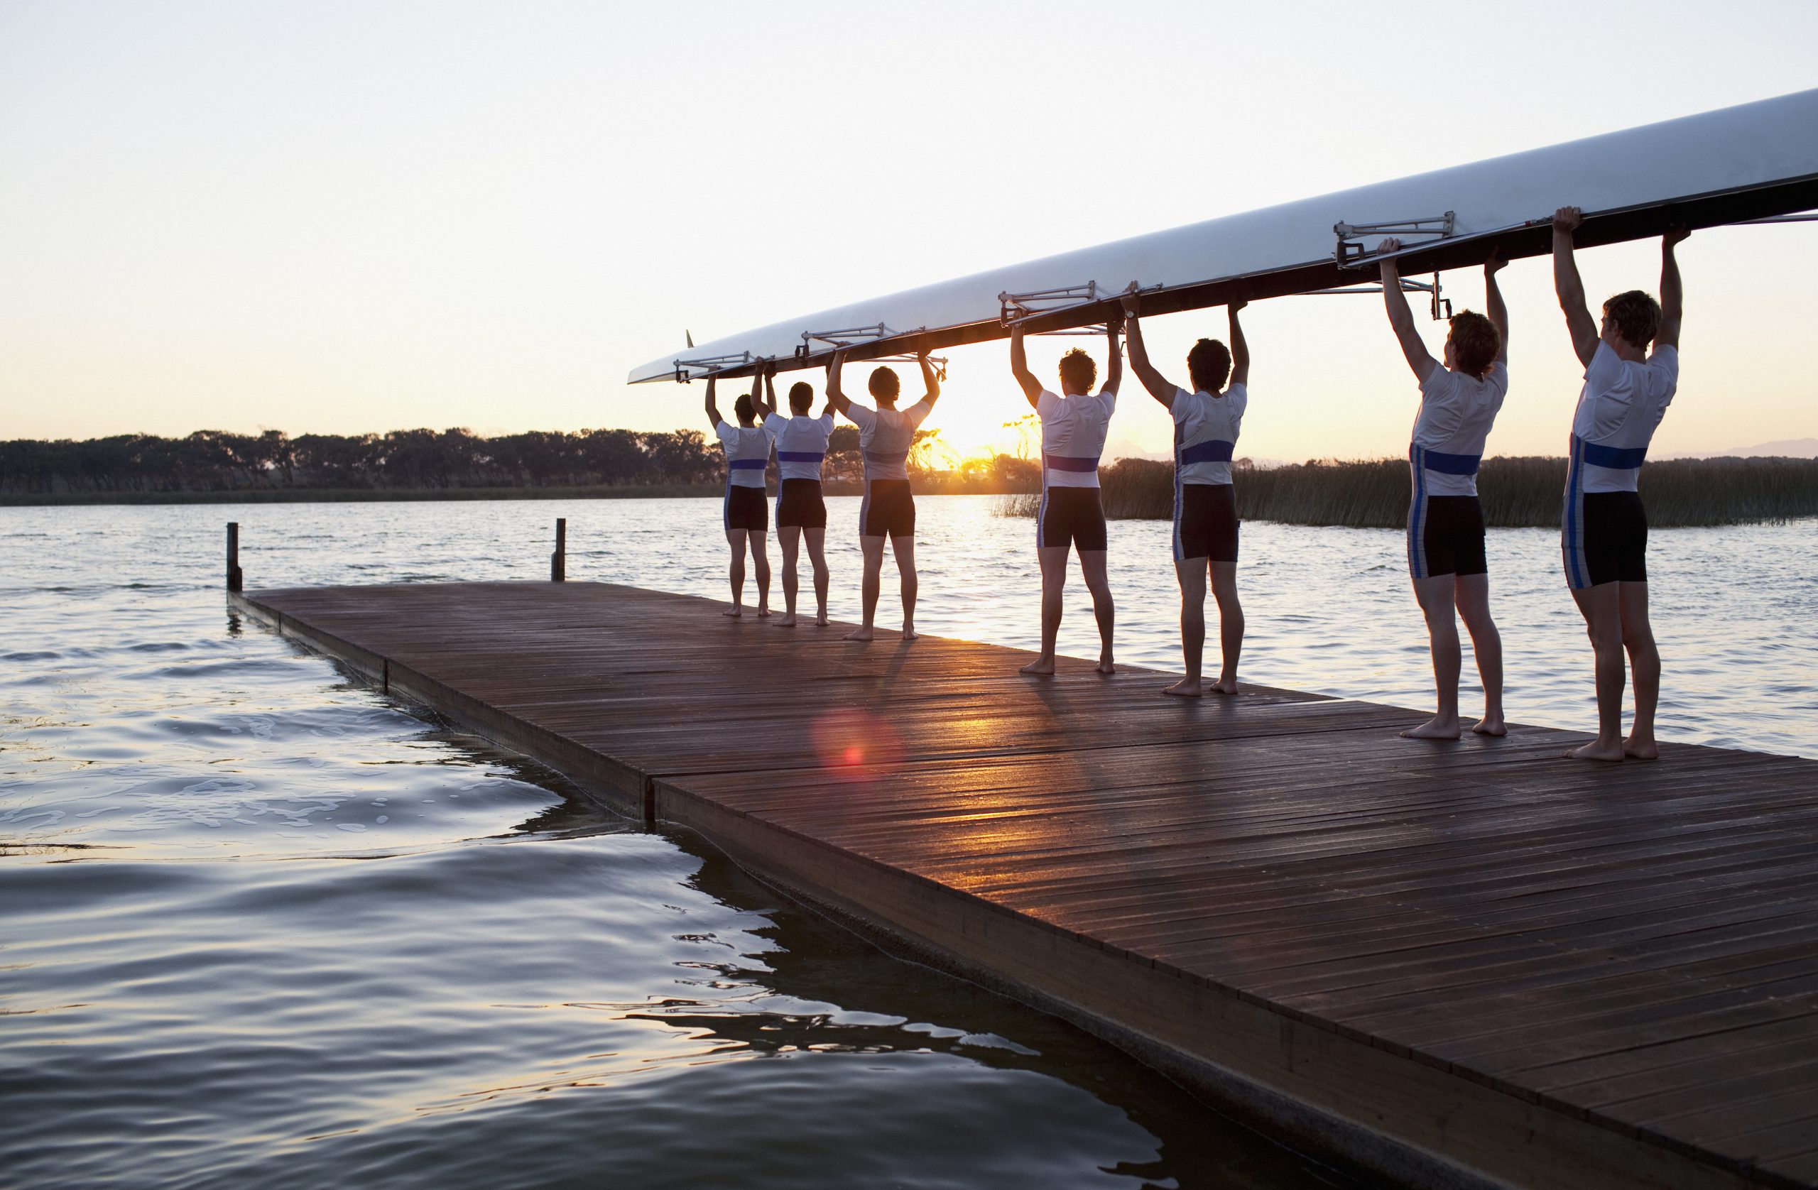
M 1022 325 L 1011 327 L 1011 374 L 1042 418 L 1042 505 L 1034 523 L 1034 552 L 1042 567 L 1042 654 L 1022 667 L 1025 674 L 1054 672 L 1054 638 L 1060 634 L 1062 596 L 1067 585 L 1067 552 L 1080 550 L 1080 574 L 1093 592 L 1098 620 L 1098 672 L 1113 674 L 1111 636 L 1116 610 L 1105 578 L 1105 507 L 1098 496 L 1098 456 L 1118 405 L 1124 356 L 1118 322 L 1105 325 L 1111 362 L 1105 387 L 1093 396 L 1098 365 L 1074 347 L 1060 358 L 1060 394 L 1049 392 L 1029 371 Z

